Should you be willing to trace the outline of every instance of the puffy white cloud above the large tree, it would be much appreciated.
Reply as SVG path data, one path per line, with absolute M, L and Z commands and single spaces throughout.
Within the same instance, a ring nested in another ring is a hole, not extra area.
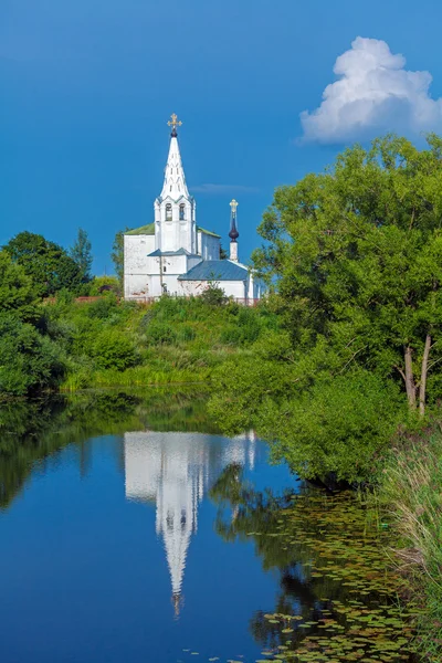
M 441 130 L 442 99 L 429 95 L 431 74 L 404 65 L 385 41 L 355 39 L 336 60 L 339 80 L 327 85 L 320 106 L 301 114 L 304 139 L 341 143 L 382 131 Z

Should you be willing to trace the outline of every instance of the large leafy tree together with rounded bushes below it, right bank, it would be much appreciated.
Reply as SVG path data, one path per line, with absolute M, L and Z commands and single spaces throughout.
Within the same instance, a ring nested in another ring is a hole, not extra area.
M 227 427 L 250 413 L 304 476 L 367 477 L 399 423 L 442 397 L 441 219 L 435 136 L 421 151 L 356 146 L 278 189 L 254 262 L 284 333 L 217 372 Z

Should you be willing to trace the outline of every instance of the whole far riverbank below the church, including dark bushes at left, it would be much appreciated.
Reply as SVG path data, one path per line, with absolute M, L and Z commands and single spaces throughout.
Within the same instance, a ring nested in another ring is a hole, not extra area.
M 278 326 L 265 305 L 239 305 L 217 288 L 149 306 L 113 293 L 92 302 L 65 293 L 35 305 L 32 326 L 18 313 L 0 320 L 3 396 L 208 382 L 217 367 L 249 354 Z

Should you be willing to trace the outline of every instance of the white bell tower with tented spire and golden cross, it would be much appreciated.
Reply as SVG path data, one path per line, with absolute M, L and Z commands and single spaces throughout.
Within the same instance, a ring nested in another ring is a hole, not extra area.
M 181 155 L 178 145 L 177 127 L 182 123 L 173 113 L 167 123 L 171 127 L 169 156 L 165 181 L 160 196 L 154 203 L 155 249 L 161 253 L 185 249 L 197 252 L 196 202 L 189 194 Z

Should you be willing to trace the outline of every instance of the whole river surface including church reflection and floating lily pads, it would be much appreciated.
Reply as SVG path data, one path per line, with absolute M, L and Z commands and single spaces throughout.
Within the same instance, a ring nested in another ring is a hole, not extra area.
M 365 507 L 197 394 L 0 407 L 0 497 L 4 663 L 409 660 Z

